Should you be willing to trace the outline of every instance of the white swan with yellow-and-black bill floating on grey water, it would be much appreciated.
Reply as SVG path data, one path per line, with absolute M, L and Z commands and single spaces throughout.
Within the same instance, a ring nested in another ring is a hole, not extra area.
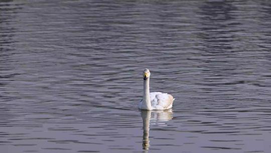
M 143 99 L 139 103 L 139 109 L 164 110 L 172 108 L 174 98 L 170 94 L 160 92 L 150 93 L 150 75 L 150 70 L 146 68 L 143 72 L 144 93 Z

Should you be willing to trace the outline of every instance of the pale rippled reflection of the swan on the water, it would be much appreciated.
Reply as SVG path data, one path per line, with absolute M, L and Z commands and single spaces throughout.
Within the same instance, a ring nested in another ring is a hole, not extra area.
M 141 117 L 143 120 L 143 149 L 149 150 L 150 140 L 149 140 L 149 131 L 150 124 L 156 124 L 158 126 L 167 126 L 165 121 L 169 121 L 173 118 L 172 109 L 169 110 L 156 110 L 156 111 L 148 111 L 142 110 Z

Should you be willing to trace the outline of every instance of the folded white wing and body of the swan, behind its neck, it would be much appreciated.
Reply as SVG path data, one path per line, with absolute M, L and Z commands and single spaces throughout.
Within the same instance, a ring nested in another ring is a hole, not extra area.
M 170 94 L 160 92 L 150 93 L 150 98 L 154 110 L 170 109 L 174 101 Z

